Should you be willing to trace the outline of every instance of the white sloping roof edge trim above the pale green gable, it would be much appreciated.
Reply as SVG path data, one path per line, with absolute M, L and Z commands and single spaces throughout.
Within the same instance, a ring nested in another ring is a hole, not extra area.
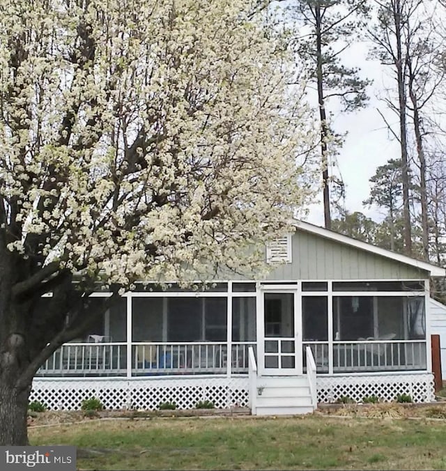
M 362 240 L 357 240 L 348 236 L 344 236 L 344 234 L 340 234 L 320 226 L 315 226 L 314 224 L 310 224 L 309 222 L 304 222 L 295 219 L 292 224 L 293 226 L 295 226 L 296 229 L 298 229 L 298 231 L 305 231 L 308 233 L 316 234 L 317 236 L 334 240 L 336 242 L 340 242 L 341 244 L 345 244 L 350 247 L 355 247 L 371 254 L 390 258 L 391 260 L 398 261 L 400 263 L 406 263 L 406 265 L 419 268 L 420 270 L 425 270 L 426 272 L 429 272 L 431 274 L 431 277 L 446 276 L 445 268 L 438 267 L 437 265 L 433 265 L 432 263 L 420 261 L 416 258 L 412 258 L 407 255 L 397 254 L 397 252 L 392 252 L 391 250 L 376 247 L 374 245 L 368 244 L 367 242 L 363 242 Z

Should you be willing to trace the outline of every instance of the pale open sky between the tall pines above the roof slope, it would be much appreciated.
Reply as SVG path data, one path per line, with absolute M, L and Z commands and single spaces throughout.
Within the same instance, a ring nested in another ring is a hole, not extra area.
M 385 85 L 390 83 L 390 75 L 379 61 L 367 58 L 367 50 L 366 43 L 356 43 L 348 49 L 343 62 L 360 67 L 362 78 L 373 79 L 374 83 L 367 89 L 370 97 L 368 106 L 349 114 L 341 114 L 334 108 L 334 104 L 329 104 L 328 109 L 334 113 L 334 129 L 337 132 L 348 132 L 345 144 L 337 157 L 345 184 L 346 209 L 349 212 L 361 211 L 374 219 L 382 219 L 383 215 L 378 208 L 367 208 L 362 205 L 362 201 L 369 197 L 369 178 L 374 175 L 376 167 L 385 164 L 390 158 L 398 158 L 399 146 L 390 136 L 377 108 L 383 112 L 387 121 L 396 126 L 398 122 L 397 116 L 387 110 L 385 104 L 378 99 L 378 95 L 383 94 Z M 322 194 L 319 196 L 319 202 L 309 207 L 306 219 L 323 226 Z

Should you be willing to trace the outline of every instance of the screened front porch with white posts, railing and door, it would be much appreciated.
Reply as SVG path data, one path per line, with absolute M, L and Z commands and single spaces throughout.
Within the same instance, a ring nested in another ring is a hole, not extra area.
M 249 346 L 272 373 L 305 371 L 305 346 L 318 373 L 426 370 L 424 293 L 423 281 L 149 286 L 123 298 L 38 374 L 240 374 L 247 373 Z

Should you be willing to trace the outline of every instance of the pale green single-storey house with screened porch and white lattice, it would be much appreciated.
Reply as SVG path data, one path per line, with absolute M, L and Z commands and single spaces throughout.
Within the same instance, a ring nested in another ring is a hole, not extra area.
M 63 409 L 90 396 L 107 408 L 208 400 L 256 414 L 310 412 L 340 396 L 433 400 L 429 277 L 444 268 L 300 221 L 266 257 L 281 264 L 265 279 L 138 286 L 45 362 L 31 400 Z

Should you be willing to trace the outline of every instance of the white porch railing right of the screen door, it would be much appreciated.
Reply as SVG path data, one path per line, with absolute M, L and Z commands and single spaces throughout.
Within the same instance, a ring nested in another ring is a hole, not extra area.
M 312 348 L 318 373 L 329 373 L 330 344 L 307 342 L 304 352 L 306 346 Z M 425 340 L 334 341 L 332 348 L 333 373 L 426 369 Z

